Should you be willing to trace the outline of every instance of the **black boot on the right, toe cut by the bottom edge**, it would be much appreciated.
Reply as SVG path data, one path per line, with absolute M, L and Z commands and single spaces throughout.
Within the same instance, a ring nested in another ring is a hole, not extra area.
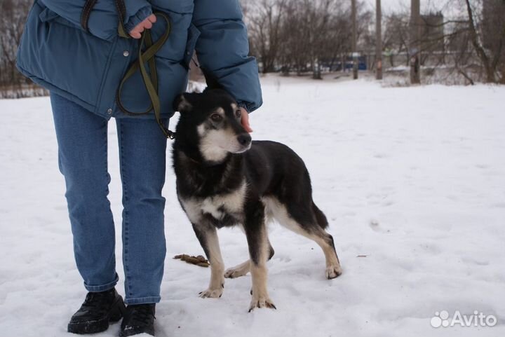
M 155 304 L 128 305 L 121 323 L 119 337 L 149 333 L 154 336 L 154 312 Z

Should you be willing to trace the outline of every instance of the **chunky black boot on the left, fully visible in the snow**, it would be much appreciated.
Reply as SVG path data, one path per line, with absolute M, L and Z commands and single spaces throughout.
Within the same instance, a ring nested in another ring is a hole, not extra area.
M 97 333 L 107 330 L 109 322 L 117 322 L 126 311 L 123 298 L 116 289 L 88 293 L 81 308 L 72 316 L 68 332 Z

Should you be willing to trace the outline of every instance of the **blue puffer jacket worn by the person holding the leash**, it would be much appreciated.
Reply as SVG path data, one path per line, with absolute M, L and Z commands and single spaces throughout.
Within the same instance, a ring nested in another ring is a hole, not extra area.
M 238 0 L 125 0 L 124 25 L 129 32 L 152 12 L 166 13 L 172 31 L 156 54 L 163 117 L 173 115 L 175 95 L 184 92 L 194 50 L 201 67 L 248 111 L 262 104 L 254 57 Z M 36 0 L 18 50 L 18 69 L 45 88 L 105 118 L 129 116 L 116 104 L 116 90 L 128 65 L 137 58 L 138 41 L 118 36 L 119 15 L 113 0 L 99 0 L 90 14 L 89 32 L 81 28 L 86 0 Z M 165 32 L 158 20 L 153 40 Z M 123 86 L 128 111 L 149 105 L 140 71 Z M 148 115 L 135 118 L 154 118 Z

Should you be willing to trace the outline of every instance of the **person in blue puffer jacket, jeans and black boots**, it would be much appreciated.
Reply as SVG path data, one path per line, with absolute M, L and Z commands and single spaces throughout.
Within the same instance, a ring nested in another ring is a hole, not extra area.
M 122 18 L 116 9 L 124 1 Z M 166 243 L 163 230 L 167 138 L 151 109 L 140 71 L 118 87 L 137 60 L 138 40 L 150 29 L 157 41 L 170 19 L 170 35 L 155 56 L 161 122 L 168 128 L 173 99 L 187 87 L 189 62 L 198 62 L 251 112 L 262 104 L 257 63 L 238 0 L 36 0 L 18 50 L 18 69 L 50 90 L 58 164 L 65 177 L 76 266 L 88 294 L 68 331 L 95 333 L 123 317 L 120 336 L 154 335 Z M 88 18 L 87 27 L 82 25 Z M 119 22 L 121 20 L 121 22 Z M 122 24 L 131 36 L 119 36 Z M 250 131 L 248 114 L 243 125 Z M 123 184 L 125 299 L 114 254 L 114 221 L 107 198 L 107 123 L 116 118 Z

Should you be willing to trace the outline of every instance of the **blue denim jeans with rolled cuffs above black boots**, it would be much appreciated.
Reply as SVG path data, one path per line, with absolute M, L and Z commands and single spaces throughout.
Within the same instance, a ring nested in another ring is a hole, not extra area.
M 107 119 L 51 93 L 74 256 L 88 291 L 118 282 L 114 220 L 107 198 Z M 163 121 L 168 124 L 168 121 Z M 163 231 L 166 143 L 156 121 L 116 119 L 123 184 L 125 302 L 158 303 L 166 255 Z

